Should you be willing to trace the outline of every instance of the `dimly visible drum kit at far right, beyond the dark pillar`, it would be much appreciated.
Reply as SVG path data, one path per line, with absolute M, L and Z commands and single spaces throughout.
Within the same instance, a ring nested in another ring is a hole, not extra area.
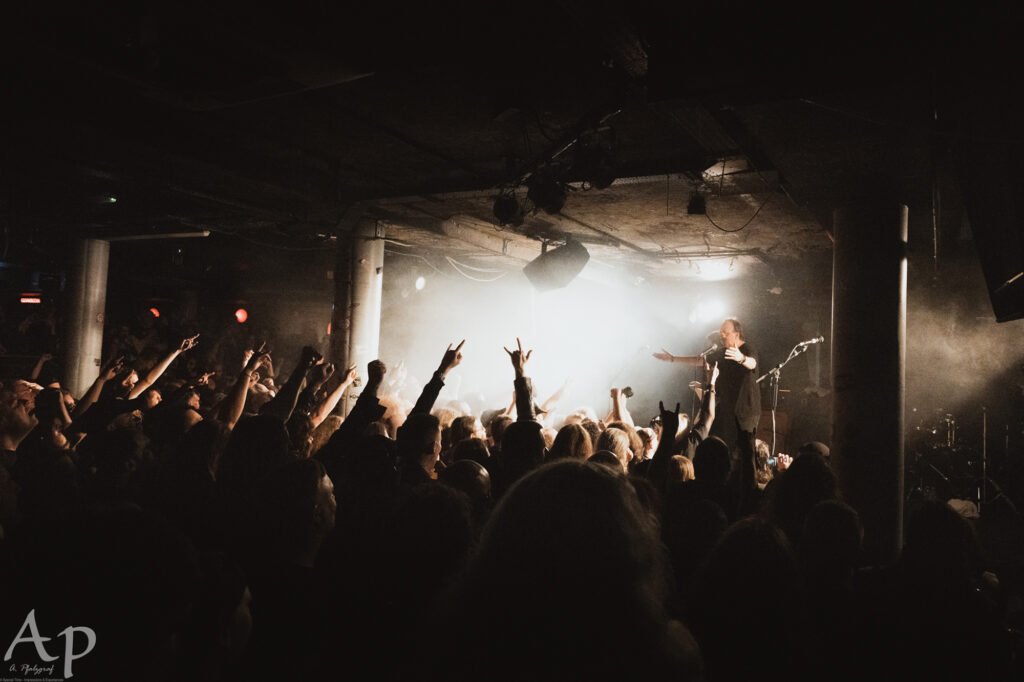
M 980 502 L 985 478 L 984 449 L 970 447 L 956 418 L 944 409 L 912 410 L 906 430 L 907 497 Z

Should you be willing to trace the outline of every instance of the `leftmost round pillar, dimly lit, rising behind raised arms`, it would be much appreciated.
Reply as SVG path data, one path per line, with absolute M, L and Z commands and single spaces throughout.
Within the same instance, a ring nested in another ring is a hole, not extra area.
M 111 243 L 79 240 L 68 282 L 68 332 L 65 373 L 69 390 L 81 397 L 95 381 L 102 363 L 103 311 Z

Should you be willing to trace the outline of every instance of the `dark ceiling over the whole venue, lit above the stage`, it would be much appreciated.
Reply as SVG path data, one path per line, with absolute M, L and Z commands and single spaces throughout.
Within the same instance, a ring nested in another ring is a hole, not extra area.
M 498 267 L 567 236 L 654 278 L 817 267 L 831 211 L 877 193 L 923 253 L 954 248 L 957 145 L 979 126 L 1019 145 L 992 114 L 1014 99 L 1009 9 L 38 4 L 4 20 L 5 259 L 201 230 L 327 247 L 360 214 Z M 567 185 L 556 214 L 525 196 L 544 174 Z

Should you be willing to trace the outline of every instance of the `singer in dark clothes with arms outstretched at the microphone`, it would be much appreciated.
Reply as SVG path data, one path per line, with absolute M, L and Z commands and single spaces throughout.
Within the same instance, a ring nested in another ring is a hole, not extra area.
M 705 357 L 712 365 L 718 363 L 721 373 L 716 396 L 718 414 L 711 427 L 711 435 L 725 440 L 729 447 L 736 445 L 736 429 L 754 431 L 761 419 L 761 391 L 757 384 L 758 351 L 743 339 L 743 328 L 732 317 L 719 328 L 722 340 L 717 348 L 700 355 L 673 355 L 663 348 L 654 357 L 663 363 L 682 363 L 700 366 Z

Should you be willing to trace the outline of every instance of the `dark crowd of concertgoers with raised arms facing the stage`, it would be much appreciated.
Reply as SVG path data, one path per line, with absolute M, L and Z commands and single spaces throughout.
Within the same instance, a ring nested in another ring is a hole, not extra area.
M 494 368 L 514 400 L 471 412 L 437 404 L 471 341 L 412 401 L 379 359 L 123 336 L 82 395 L 50 354 L 0 388 L 0 644 L 30 611 L 88 626 L 77 679 L 1024 672 L 1021 594 L 969 519 L 923 502 L 898 561 L 867 561 L 824 443 L 776 463 L 710 435 L 714 364 L 696 414 L 663 396 L 638 428 L 617 388 L 606 419 L 539 404 L 518 340 Z

